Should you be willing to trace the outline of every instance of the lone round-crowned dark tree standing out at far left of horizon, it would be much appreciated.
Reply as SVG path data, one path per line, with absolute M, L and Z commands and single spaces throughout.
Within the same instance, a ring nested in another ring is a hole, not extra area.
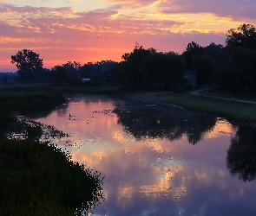
M 43 59 L 30 49 L 23 49 L 16 55 L 11 55 L 10 62 L 16 64 L 18 79 L 23 82 L 35 81 L 37 74 L 43 68 Z

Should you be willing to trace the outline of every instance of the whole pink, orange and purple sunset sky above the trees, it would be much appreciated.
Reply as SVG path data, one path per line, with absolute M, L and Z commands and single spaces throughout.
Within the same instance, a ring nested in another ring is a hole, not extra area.
M 0 72 L 30 49 L 52 68 L 120 61 L 139 43 L 182 54 L 195 41 L 225 45 L 228 29 L 256 25 L 256 0 L 0 0 Z

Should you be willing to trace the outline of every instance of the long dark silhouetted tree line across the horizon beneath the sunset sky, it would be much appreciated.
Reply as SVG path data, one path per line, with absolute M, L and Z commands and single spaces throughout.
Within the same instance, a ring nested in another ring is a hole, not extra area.
M 226 46 L 210 43 L 207 47 L 192 41 L 182 54 L 145 49 L 137 42 L 120 62 L 102 60 L 82 65 L 68 61 L 51 70 L 43 68 L 43 59 L 32 50 L 23 49 L 11 56 L 17 67 L 17 81 L 52 81 L 56 85 L 115 84 L 134 89 L 168 89 L 189 86 L 186 71 L 196 73 L 197 86 L 217 84 L 220 90 L 256 93 L 256 30 L 242 24 L 226 33 Z

